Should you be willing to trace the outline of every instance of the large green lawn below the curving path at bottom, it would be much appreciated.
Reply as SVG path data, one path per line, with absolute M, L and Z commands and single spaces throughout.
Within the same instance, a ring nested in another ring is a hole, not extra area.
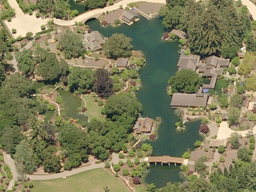
M 67 178 L 53 180 L 34 180 L 31 192 L 103 192 L 108 186 L 111 192 L 127 192 L 119 178 L 103 168 L 92 169 Z M 143 191 L 141 191 L 143 192 Z

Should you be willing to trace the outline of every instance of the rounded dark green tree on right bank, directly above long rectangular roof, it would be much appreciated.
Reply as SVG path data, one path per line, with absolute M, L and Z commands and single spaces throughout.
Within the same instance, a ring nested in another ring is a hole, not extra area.
M 202 78 L 195 71 L 182 69 L 168 81 L 172 93 L 196 93 L 203 84 Z

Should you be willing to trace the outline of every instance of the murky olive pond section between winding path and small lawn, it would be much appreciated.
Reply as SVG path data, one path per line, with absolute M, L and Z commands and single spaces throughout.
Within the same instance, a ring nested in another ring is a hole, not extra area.
M 78 123 L 87 122 L 88 117 L 80 114 L 77 108 L 79 108 L 82 104 L 82 99 L 79 98 L 77 95 L 73 95 L 69 91 L 58 90 L 57 91 L 60 96 L 63 98 L 65 105 L 67 106 L 66 116 L 72 117 L 74 119 L 79 118 Z

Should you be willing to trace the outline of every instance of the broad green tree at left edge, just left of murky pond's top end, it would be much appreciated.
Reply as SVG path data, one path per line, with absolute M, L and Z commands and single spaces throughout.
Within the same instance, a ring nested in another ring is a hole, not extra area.
M 19 73 L 11 74 L 9 78 L 2 83 L 2 88 L 12 89 L 18 92 L 19 97 L 29 97 L 33 89 L 31 80 L 26 80 L 24 76 Z

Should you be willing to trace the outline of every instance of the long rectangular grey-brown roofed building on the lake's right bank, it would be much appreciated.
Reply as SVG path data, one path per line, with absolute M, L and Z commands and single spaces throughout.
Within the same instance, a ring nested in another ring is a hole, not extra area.
M 187 94 L 174 93 L 172 97 L 172 108 L 197 108 L 198 106 L 206 107 L 208 102 L 208 94 Z

